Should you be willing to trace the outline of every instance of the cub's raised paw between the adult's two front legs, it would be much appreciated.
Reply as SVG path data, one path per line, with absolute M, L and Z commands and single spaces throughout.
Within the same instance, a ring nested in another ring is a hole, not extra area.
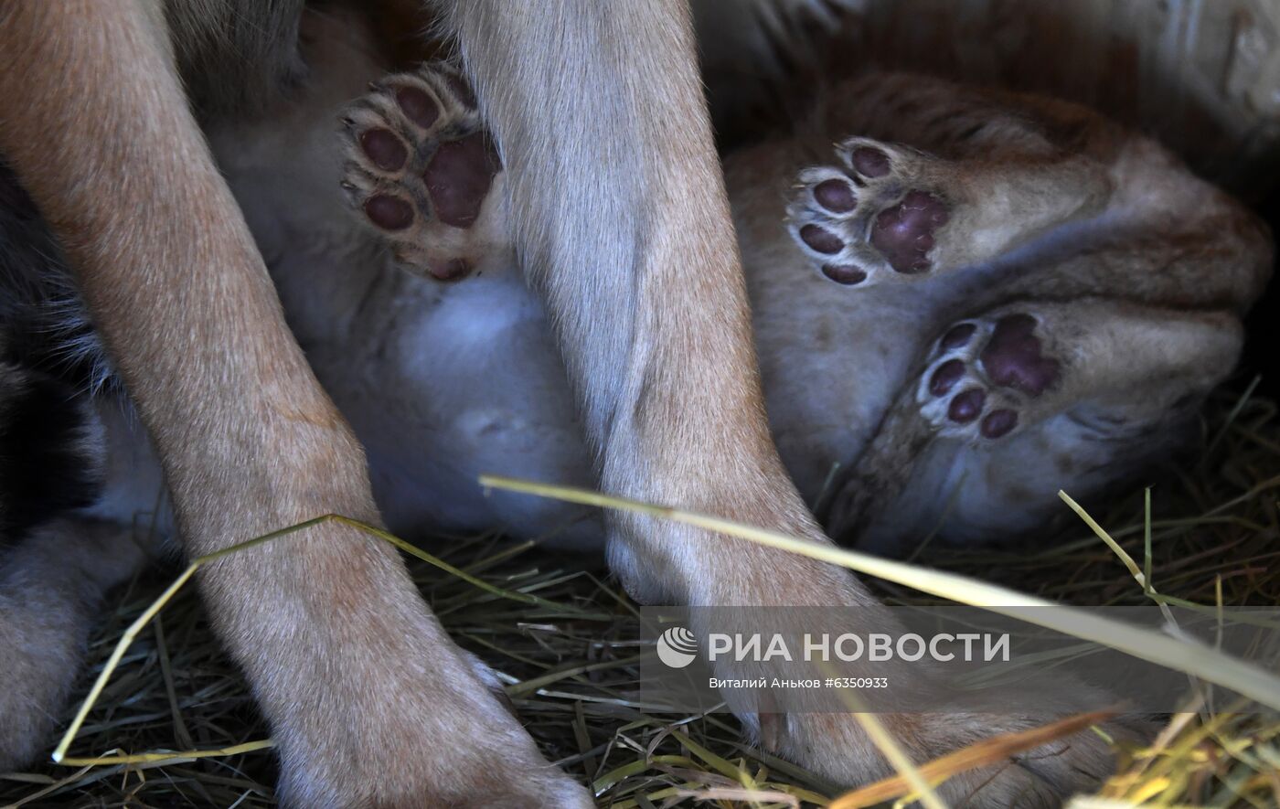
M 506 243 L 502 163 L 452 67 L 429 63 L 375 82 L 343 124 L 342 187 L 399 264 L 457 280 Z

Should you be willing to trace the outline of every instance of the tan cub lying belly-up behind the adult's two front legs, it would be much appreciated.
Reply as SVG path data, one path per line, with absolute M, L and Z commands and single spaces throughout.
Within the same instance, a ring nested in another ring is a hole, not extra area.
M 819 109 L 724 170 L 774 438 L 829 531 L 890 552 L 940 526 L 1027 531 L 1059 489 L 1098 493 L 1179 442 L 1235 365 L 1270 273 L 1253 215 L 1070 104 L 870 74 Z M 474 99 L 430 64 L 383 79 L 344 120 L 348 201 L 420 276 L 366 266 L 396 293 L 369 314 L 346 305 L 349 342 L 306 317 L 384 508 L 591 536 L 570 508 L 474 483 L 589 480 Z M 390 352 L 353 374 L 352 344 Z

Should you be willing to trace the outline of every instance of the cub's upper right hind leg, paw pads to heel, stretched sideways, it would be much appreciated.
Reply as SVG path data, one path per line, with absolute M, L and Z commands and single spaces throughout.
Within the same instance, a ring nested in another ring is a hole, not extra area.
M 1098 215 L 1111 197 L 1106 166 L 1079 155 L 946 160 L 856 137 L 836 157 L 800 173 L 787 216 L 805 255 L 844 284 L 982 264 Z

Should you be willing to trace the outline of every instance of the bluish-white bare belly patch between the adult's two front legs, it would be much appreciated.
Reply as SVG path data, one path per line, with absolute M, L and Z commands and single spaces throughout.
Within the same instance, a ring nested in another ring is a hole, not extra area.
M 476 483 L 481 474 L 570 485 L 591 480 L 549 326 L 518 276 L 447 288 L 419 320 L 385 335 L 385 344 L 383 376 L 385 393 L 398 399 L 396 417 L 387 420 L 372 397 L 362 397 L 372 412 L 349 417 L 367 437 L 375 492 L 389 521 L 552 533 L 558 544 L 598 541 L 598 522 L 584 524 L 580 509 L 486 495 Z

